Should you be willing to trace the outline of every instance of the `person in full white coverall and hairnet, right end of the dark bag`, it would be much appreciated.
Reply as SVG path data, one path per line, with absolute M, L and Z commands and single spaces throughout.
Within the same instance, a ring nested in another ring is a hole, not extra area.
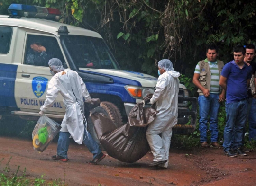
M 155 103 L 156 115 L 146 131 L 154 160 L 149 166 L 168 167 L 172 128 L 178 121 L 178 92 L 180 73 L 174 71 L 173 63 L 164 59 L 158 62 L 159 78 L 150 103 Z M 161 134 L 161 137 L 160 137 Z

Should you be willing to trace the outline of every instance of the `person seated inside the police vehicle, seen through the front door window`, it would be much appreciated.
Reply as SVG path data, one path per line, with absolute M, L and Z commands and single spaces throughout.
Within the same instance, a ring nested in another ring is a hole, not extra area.
M 39 41 L 33 41 L 30 44 L 26 57 L 26 64 L 35 66 L 47 66 L 48 56 L 46 48 Z

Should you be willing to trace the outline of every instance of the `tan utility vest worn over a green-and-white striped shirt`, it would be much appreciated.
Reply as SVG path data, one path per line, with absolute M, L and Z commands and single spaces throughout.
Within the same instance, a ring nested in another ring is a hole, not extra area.
M 217 60 L 217 65 L 218 65 L 219 76 L 220 76 L 221 71 L 224 67 L 224 62 Z M 208 60 L 205 59 L 205 60 L 200 61 L 199 68 L 200 68 L 199 82 L 205 89 L 210 90 L 211 71 L 210 71 L 210 67 L 208 64 Z M 220 86 L 219 86 L 219 88 L 220 88 L 220 92 L 221 92 L 222 89 Z M 198 89 L 197 92 L 199 93 L 199 95 L 203 95 L 203 92 L 201 91 L 201 89 Z

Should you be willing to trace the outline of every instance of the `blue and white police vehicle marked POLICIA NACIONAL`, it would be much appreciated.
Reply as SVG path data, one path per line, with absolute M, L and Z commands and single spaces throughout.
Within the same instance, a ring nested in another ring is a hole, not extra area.
M 8 11 L 10 16 L 0 15 L 0 118 L 19 116 L 19 122 L 38 119 L 52 78 L 48 67 L 51 58 L 59 58 L 65 68 L 79 73 L 91 97 L 101 99 L 101 108 L 117 126 L 136 103 L 154 92 L 157 78 L 120 69 L 101 35 L 54 21 L 60 18 L 58 9 L 11 4 Z M 44 46 L 45 51 L 40 53 L 44 57 L 39 55 L 38 61 L 35 58 L 31 63 L 33 44 Z M 174 133 L 188 134 L 195 129 L 197 100 L 188 96 L 180 84 Z M 186 107 L 189 102 L 191 109 Z M 62 120 L 64 114 L 59 95 L 46 115 Z

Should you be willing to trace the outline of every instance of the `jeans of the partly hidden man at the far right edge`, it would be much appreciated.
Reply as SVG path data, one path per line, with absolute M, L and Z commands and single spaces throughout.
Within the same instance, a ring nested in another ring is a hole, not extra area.
M 256 99 L 252 99 L 249 113 L 249 141 L 256 140 Z

